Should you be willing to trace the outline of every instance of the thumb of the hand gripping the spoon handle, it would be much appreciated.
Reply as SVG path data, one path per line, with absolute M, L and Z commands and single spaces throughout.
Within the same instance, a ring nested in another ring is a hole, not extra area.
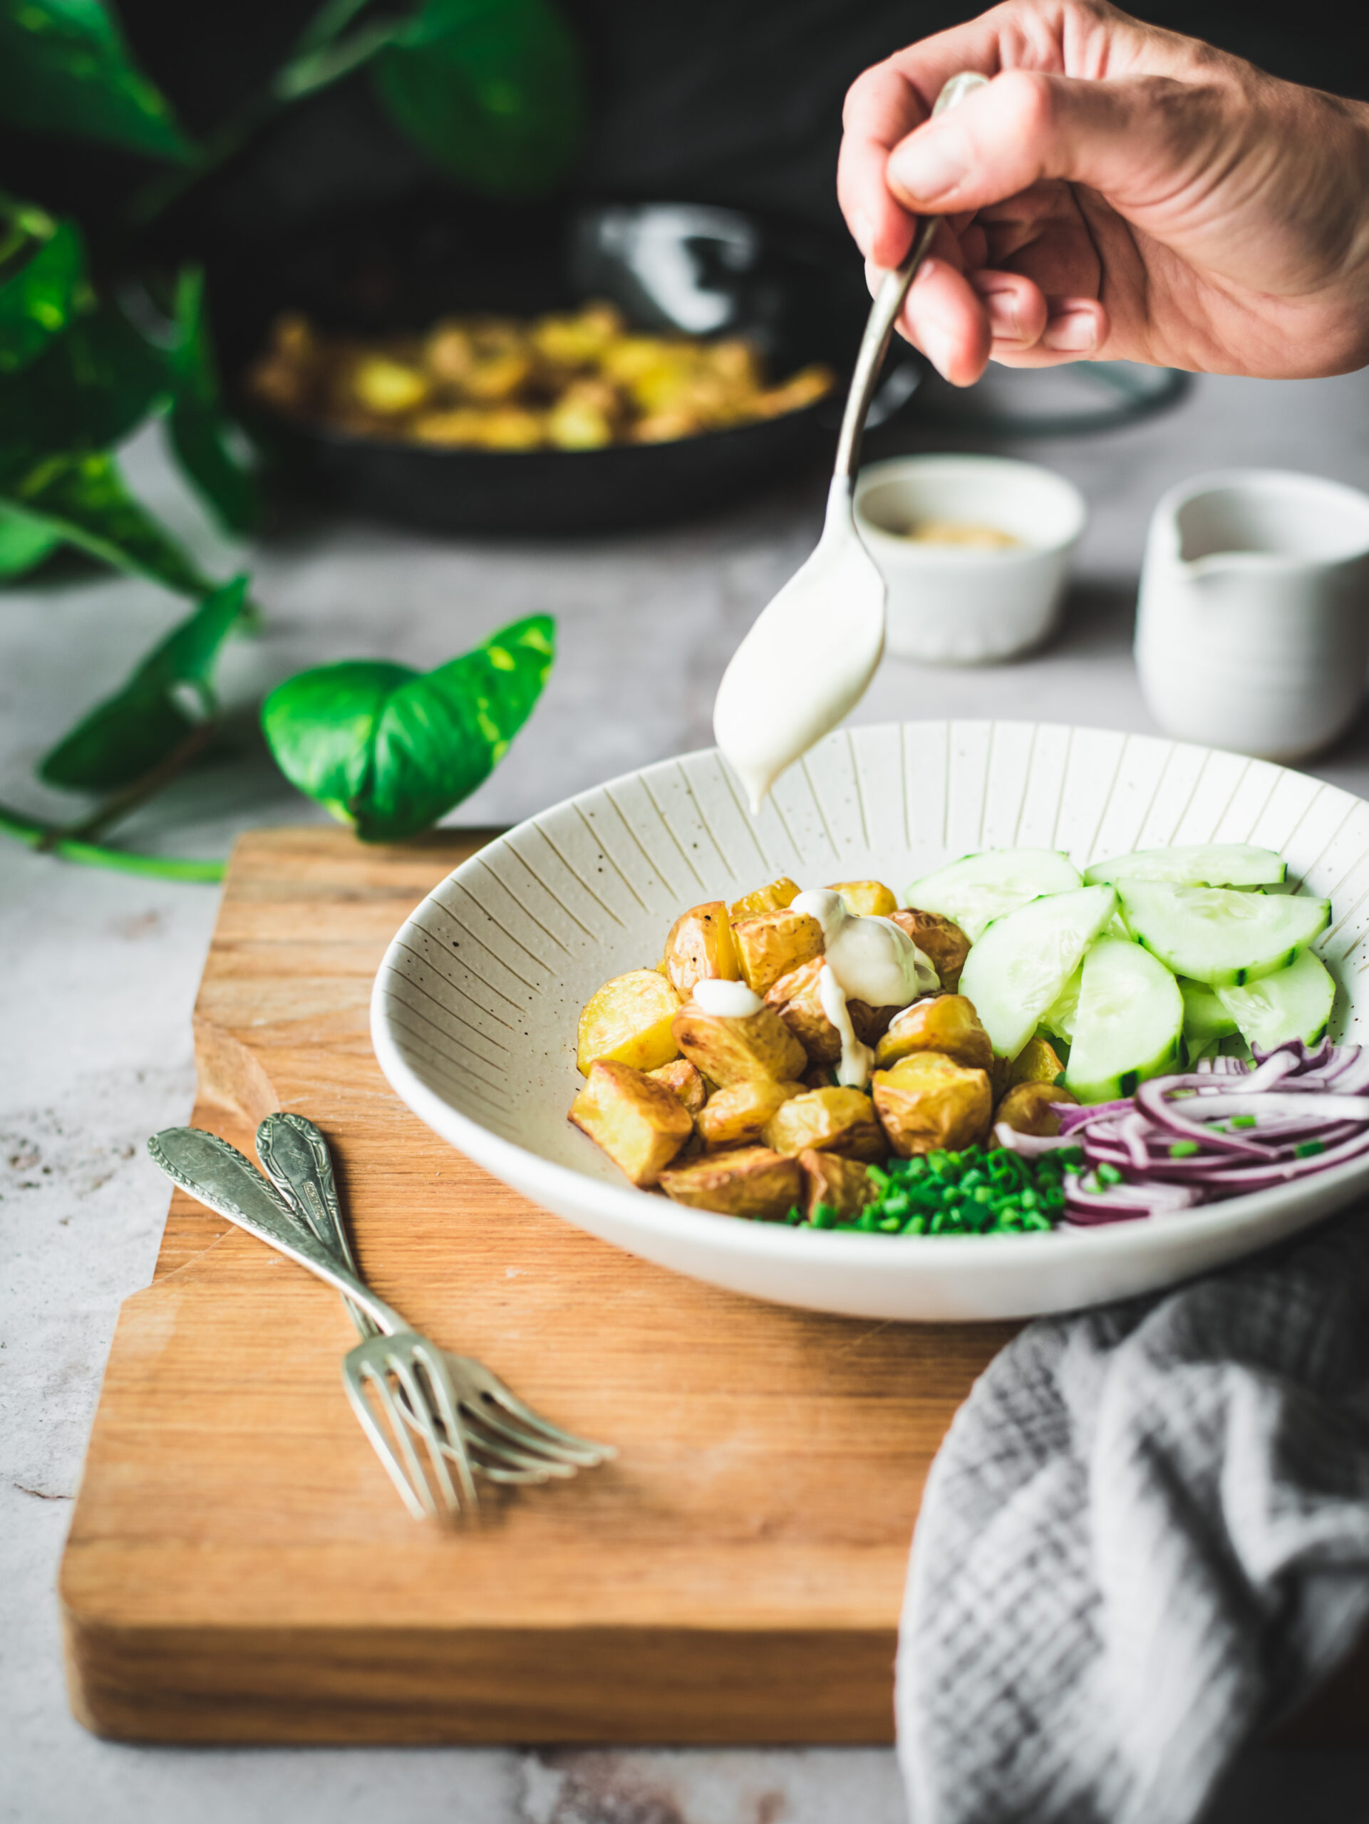
M 1172 193 L 1208 140 L 1210 91 L 1172 77 L 1113 82 L 1009 69 L 889 153 L 885 181 L 918 213 L 982 210 L 1042 179 L 1134 204 Z

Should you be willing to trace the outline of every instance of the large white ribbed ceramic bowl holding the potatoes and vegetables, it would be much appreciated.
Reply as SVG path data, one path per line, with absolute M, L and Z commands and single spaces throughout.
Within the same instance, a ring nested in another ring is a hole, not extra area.
M 372 998 L 376 1056 L 429 1127 L 533 1202 L 619 1248 L 758 1299 L 891 1319 L 988 1319 L 1148 1291 L 1305 1228 L 1369 1164 L 1168 1218 L 1048 1235 L 836 1235 L 635 1191 L 566 1120 L 575 1021 L 653 963 L 672 919 L 790 874 L 902 892 L 951 855 L 1059 846 L 1079 865 L 1159 843 L 1250 841 L 1332 901 L 1320 950 L 1332 1032 L 1369 1018 L 1369 804 L 1148 735 L 1031 722 L 841 730 L 750 817 L 716 751 L 582 792 L 480 850 L 409 917 Z

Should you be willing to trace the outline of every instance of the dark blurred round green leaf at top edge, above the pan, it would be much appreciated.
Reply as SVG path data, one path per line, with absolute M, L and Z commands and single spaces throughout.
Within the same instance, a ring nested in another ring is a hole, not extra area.
M 400 131 L 491 197 L 553 190 L 580 144 L 580 53 L 551 0 L 423 0 L 372 80 Z

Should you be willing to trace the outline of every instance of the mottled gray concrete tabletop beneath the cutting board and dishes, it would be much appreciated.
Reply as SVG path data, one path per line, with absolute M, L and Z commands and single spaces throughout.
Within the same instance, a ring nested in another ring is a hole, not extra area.
M 1008 713 L 1146 730 L 1128 642 L 1150 505 L 1181 476 L 1232 463 L 1369 487 L 1369 374 L 1207 379 L 1166 418 L 1022 452 L 1073 476 L 1092 503 L 1061 637 L 1017 666 L 978 671 L 891 660 L 862 719 Z M 153 440 L 131 449 L 130 469 L 206 560 L 232 562 Z M 234 753 L 126 835 L 225 854 L 248 824 L 312 817 L 254 737 L 263 686 L 327 658 L 434 664 L 540 609 L 560 624 L 544 702 L 453 821 L 513 821 L 703 746 L 723 664 L 807 554 L 821 494 L 816 480 L 708 523 L 588 544 L 444 544 L 325 523 L 277 534 L 243 554 L 268 627 L 225 664 L 239 706 Z M 175 613 L 159 591 L 104 576 L 0 596 L 0 799 L 73 815 L 78 806 L 35 784 L 35 759 Z M 1369 722 L 1311 770 L 1369 795 Z M 142 1140 L 190 1111 L 190 1005 L 214 910 L 214 888 L 77 868 L 0 839 L 0 1819 L 896 1824 L 893 1757 L 874 1749 L 183 1751 L 97 1742 L 71 1722 L 57 1561 L 119 1302 L 146 1284 L 157 1251 L 166 1198 Z M 1367 1773 L 1369 1753 L 1254 1751 L 1214 1819 L 1369 1819 Z

